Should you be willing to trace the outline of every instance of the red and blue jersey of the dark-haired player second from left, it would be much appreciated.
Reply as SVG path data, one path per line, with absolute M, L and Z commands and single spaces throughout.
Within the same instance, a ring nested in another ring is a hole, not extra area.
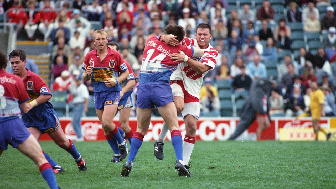
M 52 95 L 47 84 L 39 75 L 31 72 L 27 68 L 26 70 L 27 76 L 23 79 L 23 84 L 27 94 L 30 97 L 30 100 L 27 101 L 27 103 L 36 100 L 40 95 Z M 35 122 L 40 120 L 39 118 L 43 116 L 43 112 L 45 112 L 48 108 L 52 108 L 50 101 L 39 104 L 29 110 L 28 113 L 22 114 L 22 120 L 33 125 L 35 124 L 34 126 L 38 126 Z

